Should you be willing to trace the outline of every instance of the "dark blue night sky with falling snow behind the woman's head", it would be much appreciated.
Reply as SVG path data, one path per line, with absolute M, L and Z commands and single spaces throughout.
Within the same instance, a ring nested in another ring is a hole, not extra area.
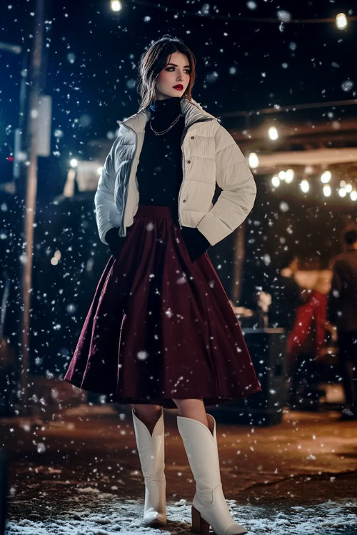
M 192 96 L 213 115 L 356 97 L 356 22 L 344 31 L 333 22 L 281 22 L 286 17 L 334 17 L 341 11 L 354 16 L 351 1 L 164 1 L 161 5 L 170 11 L 156 8 L 154 1 L 128 1 L 119 13 L 111 11 L 106 0 L 46 4 L 43 92 L 53 99 L 51 151 L 65 161 L 71 151 L 90 157 L 87 141 L 105 140 L 108 133 L 110 138 L 117 119 L 136 113 L 139 58 L 164 34 L 183 39 L 193 51 L 197 64 Z M 200 10 L 206 16 L 196 16 Z M 0 40 L 28 47 L 33 13 L 34 1 L 2 2 Z M 223 16 L 226 19 L 218 18 Z M 8 51 L 0 51 L 0 58 L 2 166 L 18 126 L 21 60 Z M 64 134 L 58 146 L 57 129 Z

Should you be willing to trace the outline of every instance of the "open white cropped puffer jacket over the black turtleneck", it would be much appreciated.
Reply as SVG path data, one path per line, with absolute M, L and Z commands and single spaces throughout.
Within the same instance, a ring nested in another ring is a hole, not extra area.
M 220 124 L 193 99 L 181 98 L 185 126 L 181 137 L 183 180 L 178 193 L 180 226 L 197 227 L 211 245 L 226 238 L 246 219 L 256 198 L 256 183 L 241 149 Z M 94 198 L 99 238 L 109 228 L 134 223 L 139 207 L 136 170 L 151 111 L 119 123 L 119 135 L 106 157 Z M 216 182 L 223 190 L 215 205 Z M 108 245 L 106 243 L 106 245 Z

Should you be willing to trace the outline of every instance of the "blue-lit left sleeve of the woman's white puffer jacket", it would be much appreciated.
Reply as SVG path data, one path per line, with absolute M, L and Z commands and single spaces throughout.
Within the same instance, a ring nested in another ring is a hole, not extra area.
M 111 150 L 109 151 L 106 161 L 104 162 L 101 176 L 99 178 L 96 195 L 94 195 L 94 204 L 96 207 L 96 225 L 98 227 L 100 240 L 106 242 L 106 233 L 109 228 L 115 225 L 109 222 L 109 214 L 111 210 L 116 210 L 114 201 L 114 187 L 115 187 L 115 170 L 114 170 L 114 151 L 119 138 L 114 141 Z

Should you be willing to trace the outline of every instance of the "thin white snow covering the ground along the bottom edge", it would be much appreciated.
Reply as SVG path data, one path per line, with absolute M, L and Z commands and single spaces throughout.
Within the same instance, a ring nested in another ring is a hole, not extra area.
M 191 502 L 184 499 L 166 504 L 168 524 L 150 528 L 142 524 L 144 501 L 121 500 L 98 489 L 79 489 L 78 500 L 71 501 L 67 514 L 51 514 L 48 519 L 33 514 L 33 518 L 8 521 L 5 535 L 121 535 L 191 533 Z M 81 504 L 81 496 L 86 495 Z M 227 500 L 234 520 L 246 526 L 249 535 L 356 535 L 357 500 L 325 501 L 313 506 L 284 504 L 237 504 Z M 105 512 L 103 510 L 105 509 Z

